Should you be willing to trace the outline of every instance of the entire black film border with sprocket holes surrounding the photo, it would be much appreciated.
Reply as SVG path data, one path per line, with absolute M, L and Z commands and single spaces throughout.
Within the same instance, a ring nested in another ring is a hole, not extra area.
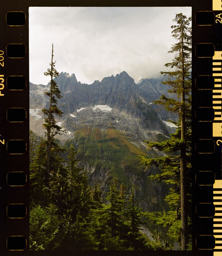
M 67 1 L 69 2 L 69 1 Z M 28 8 L 1 5 L 0 39 L 0 253 L 29 252 Z M 45 6 L 63 6 L 46 1 Z M 73 3 L 67 3 L 73 6 Z M 87 6 L 86 2 L 80 5 Z M 92 5 L 98 6 L 96 2 Z M 129 3 L 122 2 L 122 6 Z M 222 2 L 168 1 L 150 6 L 192 6 L 193 248 L 160 255 L 222 255 Z M 21 7 L 22 6 L 22 7 Z M 39 5 L 38 5 L 39 6 Z M 107 6 L 116 6 L 109 2 Z M 131 2 L 131 6 L 147 6 Z M 41 254 L 42 255 L 42 254 Z M 58 254 L 60 255 L 60 254 Z M 67 254 L 68 255 L 68 254 Z M 156 255 L 156 252 L 149 252 Z

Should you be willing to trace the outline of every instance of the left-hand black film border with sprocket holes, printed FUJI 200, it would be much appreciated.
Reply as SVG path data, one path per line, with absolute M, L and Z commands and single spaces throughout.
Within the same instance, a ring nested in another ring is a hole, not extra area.
M 1 13 L 1 31 L 7 34 L 0 50 L 1 250 L 6 255 L 28 251 L 29 56 L 27 12 L 8 8 Z

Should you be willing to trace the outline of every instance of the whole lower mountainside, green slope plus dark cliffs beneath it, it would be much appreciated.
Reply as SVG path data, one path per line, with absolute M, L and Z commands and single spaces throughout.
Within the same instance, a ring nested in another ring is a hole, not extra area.
M 106 198 L 110 181 L 117 177 L 119 185 L 123 182 L 127 190 L 135 187 L 136 201 L 144 210 L 166 209 L 163 198 L 167 186 L 147 178 L 157 169 L 145 170 L 145 166 L 139 164 L 137 155 L 150 156 L 133 144 L 126 133 L 114 128 L 85 127 L 75 132 L 74 139 L 65 141 L 64 147 L 69 148 L 71 143 L 77 148 L 77 158 L 87 172 L 89 185 L 100 185 L 103 198 Z

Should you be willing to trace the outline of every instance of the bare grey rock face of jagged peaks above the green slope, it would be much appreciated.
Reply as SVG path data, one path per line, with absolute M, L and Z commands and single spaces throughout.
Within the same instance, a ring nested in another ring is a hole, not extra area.
M 84 126 L 111 126 L 141 141 L 156 141 L 158 134 L 169 137 L 169 131 L 172 132 L 125 71 L 115 77 L 105 77 L 101 82 L 94 81 L 91 85 L 81 84 L 75 74 L 70 76 L 63 72 L 55 81 L 63 96 L 58 101 L 58 107 L 64 114 L 58 122 L 62 122 L 68 131 Z M 47 96 L 43 91 L 47 91 L 48 87 L 30 83 L 30 108 L 47 107 Z M 98 105 L 106 106 L 107 110 L 95 108 Z

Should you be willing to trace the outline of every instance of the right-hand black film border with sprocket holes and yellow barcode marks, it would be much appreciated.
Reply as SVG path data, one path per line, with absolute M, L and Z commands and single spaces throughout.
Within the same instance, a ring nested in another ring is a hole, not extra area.
M 214 256 L 222 255 L 221 7 L 221 1 L 212 1 L 212 9 L 196 13 L 196 29 L 203 33 L 205 28 L 207 36 L 194 37 L 195 56 L 192 56 L 193 60 L 196 58 L 192 68 L 198 67 L 192 90 L 192 97 L 198 97 L 197 102 L 192 100 L 193 113 L 195 111 L 193 168 L 196 172 L 193 193 L 197 192 L 197 196 L 193 195 L 193 207 L 196 208 L 193 234 L 197 250 L 208 251 Z

